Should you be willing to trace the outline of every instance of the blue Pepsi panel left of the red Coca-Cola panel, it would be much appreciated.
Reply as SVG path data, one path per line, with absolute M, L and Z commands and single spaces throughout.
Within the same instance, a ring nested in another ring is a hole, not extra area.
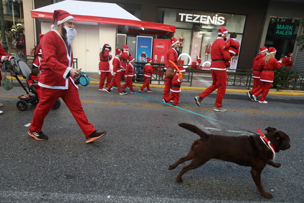
M 152 56 L 153 37 L 137 36 L 136 37 L 136 62 L 147 62 L 146 58 Z M 136 66 L 136 72 L 142 73 L 142 70 Z

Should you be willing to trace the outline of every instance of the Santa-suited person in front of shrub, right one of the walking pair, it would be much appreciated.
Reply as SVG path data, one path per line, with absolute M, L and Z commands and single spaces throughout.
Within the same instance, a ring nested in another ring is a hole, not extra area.
M 280 69 L 281 61 L 277 61 L 275 58 L 277 50 L 274 47 L 270 47 L 269 54 L 264 57 L 264 66 L 260 76 L 261 85 L 256 88 L 255 92 L 252 92 L 252 97 L 256 101 L 256 97 L 260 94 L 261 97 L 258 100 L 258 103 L 267 104 L 268 101 L 265 101 L 265 98 L 271 88 L 272 83 L 274 82 L 275 69 Z

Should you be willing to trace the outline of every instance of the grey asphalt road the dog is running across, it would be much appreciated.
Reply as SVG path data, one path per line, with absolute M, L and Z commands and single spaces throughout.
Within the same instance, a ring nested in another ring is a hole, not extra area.
M 24 90 L 0 88 L 0 202 L 304 202 L 304 97 L 268 95 L 268 104 L 258 104 L 243 93 L 226 93 L 228 111 L 221 113 L 213 111 L 216 93 L 199 108 L 194 101 L 199 91 L 182 90 L 179 109 L 164 106 L 162 89 L 153 90 L 140 96 L 81 87 L 89 121 L 107 132 L 85 144 L 64 103 L 45 119 L 49 140 L 32 139 L 26 132 L 34 106 L 24 112 L 16 108 Z M 269 126 L 286 132 L 291 148 L 275 158 L 282 166 L 267 165 L 261 177 L 274 198 L 257 192 L 249 167 L 219 160 L 185 173 L 184 182 L 176 183 L 186 163 L 173 171 L 168 166 L 199 138 L 179 127 L 180 122 L 227 136 Z

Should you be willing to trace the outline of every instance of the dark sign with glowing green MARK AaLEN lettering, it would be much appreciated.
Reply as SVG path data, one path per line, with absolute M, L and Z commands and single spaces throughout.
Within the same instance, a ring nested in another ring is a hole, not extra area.
M 292 39 L 296 37 L 296 23 L 276 22 L 274 26 L 274 38 Z

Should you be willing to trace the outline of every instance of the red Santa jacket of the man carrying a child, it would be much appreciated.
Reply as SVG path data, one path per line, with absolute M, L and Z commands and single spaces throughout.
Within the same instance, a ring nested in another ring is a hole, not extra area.
M 220 37 L 212 44 L 210 70 L 226 71 L 225 61 L 229 63 L 231 56 L 228 49 L 223 49 L 223 46 L 226 46 L 226 43 Z

